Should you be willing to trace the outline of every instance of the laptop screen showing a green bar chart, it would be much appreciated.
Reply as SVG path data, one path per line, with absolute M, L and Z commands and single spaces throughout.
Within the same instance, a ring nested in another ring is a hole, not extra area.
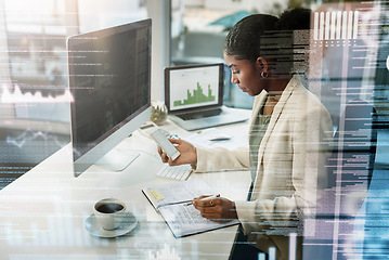
M 222 105 L 224 65 L 165 68 L 165 103 L 169 112 Z

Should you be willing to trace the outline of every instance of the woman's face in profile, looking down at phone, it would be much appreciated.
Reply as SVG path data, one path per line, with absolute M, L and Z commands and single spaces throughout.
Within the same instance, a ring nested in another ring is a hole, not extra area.
M 232 72 L 231 82 L 237 84 L 243 92 L 255 96 L 265 88 L 265 82 L 260 76 L 261 67 L 258 62 L 237 60 L 236 56 L 225 53 L 224 60 Z

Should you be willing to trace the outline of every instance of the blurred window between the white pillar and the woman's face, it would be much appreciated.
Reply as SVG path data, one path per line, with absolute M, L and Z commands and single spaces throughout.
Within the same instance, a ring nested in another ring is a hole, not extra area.
M 232 26 L 254 13 L 280 15 L 287 6 L 301 6 L 302 2 L 250 0 L 172 0 L 170 63 L 172 66 L 223 62 L 223 43 Z M 251 108 L 254 98 L 241 92 L 230 82 L 225 69 L 224 104 Z

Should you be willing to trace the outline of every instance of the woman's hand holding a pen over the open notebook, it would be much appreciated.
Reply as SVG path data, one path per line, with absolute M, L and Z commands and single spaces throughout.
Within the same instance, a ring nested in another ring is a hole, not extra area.
M 194 198 L 192 203 L 202 212 L 204 218 L 215 222 L 226 222 L 237 219 L 235 204 L 228 198 L 207 198 L 207 196 L 200 196 Z

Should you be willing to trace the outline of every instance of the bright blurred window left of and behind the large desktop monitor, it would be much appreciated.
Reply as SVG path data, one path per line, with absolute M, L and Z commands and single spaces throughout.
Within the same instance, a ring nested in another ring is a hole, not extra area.
M 145 4 L 0 0 L 0 190 L 70 141 L 67 37 L 146 18 Z

